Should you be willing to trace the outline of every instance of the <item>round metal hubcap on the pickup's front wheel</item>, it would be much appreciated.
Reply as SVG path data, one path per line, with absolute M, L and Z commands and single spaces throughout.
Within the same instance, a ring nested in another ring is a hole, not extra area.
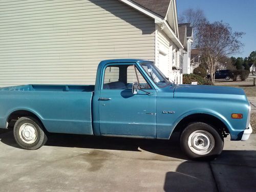
M 187 144 L 195 154 L 206 155 L 214 149 L 215 139 L 209 132 L 198 130 L 189 135 Z

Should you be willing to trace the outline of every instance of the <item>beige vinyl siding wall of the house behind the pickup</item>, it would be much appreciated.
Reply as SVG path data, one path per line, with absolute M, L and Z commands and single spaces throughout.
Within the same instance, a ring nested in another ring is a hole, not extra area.
M 154 20 L 118 0 L 6 0 L 0 13 L 0 87 L 94 84 L 101 60 L 155 60 Z

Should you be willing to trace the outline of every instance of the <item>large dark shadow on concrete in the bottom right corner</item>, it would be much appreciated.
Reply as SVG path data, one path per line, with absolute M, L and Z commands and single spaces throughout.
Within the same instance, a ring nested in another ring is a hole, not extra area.
M 211 162 L 182 162 L 165 174 L 164 191 L 255 191 L 256 151 L 223 151 Z

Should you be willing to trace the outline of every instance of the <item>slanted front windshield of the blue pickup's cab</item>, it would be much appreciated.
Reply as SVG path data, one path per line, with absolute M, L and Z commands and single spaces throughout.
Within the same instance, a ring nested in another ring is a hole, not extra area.
M 140 66 L 144 69 L 147 75 L 156 83 L 160 88 L 173 84 L 164 76 L 164 74 L 154 65 L 154 63 L 145 62 L 140 63 Z

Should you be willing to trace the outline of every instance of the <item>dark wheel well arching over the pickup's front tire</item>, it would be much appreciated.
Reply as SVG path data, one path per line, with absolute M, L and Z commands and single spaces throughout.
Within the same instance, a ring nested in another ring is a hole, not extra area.
M 173 133 L 182 133 L 185 127 L 193 122 L 203 122 L 213 126 L 223 137 L 229 135 L 227 126 L 217 117 L 208 114 L 193 114 L 183 118 L 175 127 Z

